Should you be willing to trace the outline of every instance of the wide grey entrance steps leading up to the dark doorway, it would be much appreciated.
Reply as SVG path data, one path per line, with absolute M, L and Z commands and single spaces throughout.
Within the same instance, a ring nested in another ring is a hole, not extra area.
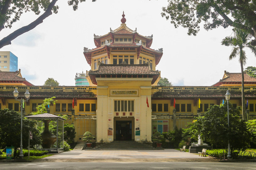
M 156 150 L 150 145 L 139 143 L 136 141 L 113 141 L 103 143 L 95 148 L 95 150 Z

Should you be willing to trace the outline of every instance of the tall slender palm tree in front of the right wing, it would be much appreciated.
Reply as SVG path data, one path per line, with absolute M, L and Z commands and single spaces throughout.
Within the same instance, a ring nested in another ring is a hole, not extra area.
M 242 116 L 243 120 L 246 119 L 245 116 L 245 97 L 244 97 L 244 74 L 243 66 L 246 64 L 247 57 L 245 55 L 244 48 L 248 47 L 253 54 L 256 56 L 256 47 L 251 45 L 252 36 L 242 29 L 233 29 L 234 36 L 226 37 L 221 41 L 221 45 L 234 46 L 233 50 L 229 56 L 229 60 L 232 60 L 236 56 L 239 56 L 239 62 L 241 65 L 242 72 Z

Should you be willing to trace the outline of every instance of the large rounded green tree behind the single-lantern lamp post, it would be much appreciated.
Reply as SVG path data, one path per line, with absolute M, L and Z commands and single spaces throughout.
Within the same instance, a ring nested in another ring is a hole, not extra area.
M 220 106 L 210 106 L 204 116 L 198 117 L 191 125 L 192 138 L 201 135 L 205 142 L 218 144 L 221 148 L 227 148 L 228 140 L 234 149 L 246 149 L 250 141 L 250 134 L 244 120 L 239 119 L 239 108 L 229 104 L 229 122 L 227 124 L 227 102 Z

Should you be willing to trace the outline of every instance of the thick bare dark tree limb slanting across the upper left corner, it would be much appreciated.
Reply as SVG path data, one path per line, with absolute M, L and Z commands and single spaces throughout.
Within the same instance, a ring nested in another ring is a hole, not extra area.
M 19 35 L 22 35 L 23 33 L 28 32 L 29 30 L 34 29 L 37 25 L 41 24 L 45 18 L 47 18 L 52 14 L 51 10 L 57 1 L 58 0 L 52 0 L 47 10 L 40 17 L 38 17 L 34 22 L 20 29 L 17 29 L 7 37 L 4 37 L 2 40 L 0 40 L 0 49 L 5 45 L 11 44 L 11 41 L 17 38 Z

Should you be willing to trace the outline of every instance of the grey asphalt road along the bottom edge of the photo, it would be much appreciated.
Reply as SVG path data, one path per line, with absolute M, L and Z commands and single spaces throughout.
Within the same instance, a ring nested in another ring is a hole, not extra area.
M 7 169 L 83 169 L 83 170 L 256 170 L 255 162 L 26 162 L 3 163 L 0 170 Z

